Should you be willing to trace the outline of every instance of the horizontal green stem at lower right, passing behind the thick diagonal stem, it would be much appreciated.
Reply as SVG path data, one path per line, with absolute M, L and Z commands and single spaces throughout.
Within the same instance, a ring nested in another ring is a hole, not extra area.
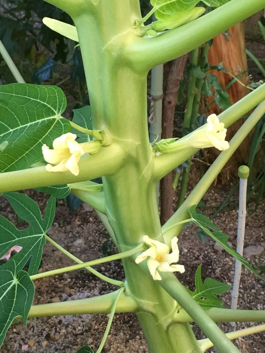
M 239 309 L 235 310 L 235 309 L 211 308 L 211 309 L 205 309 L 205 312 L 214 322 L 265 321 L 265 310 L 239 310 Z M 175 314 L 175 319 L 177 322 L 193 321 L 193 319 L 183 309 L 181 309 L 178 313 Z

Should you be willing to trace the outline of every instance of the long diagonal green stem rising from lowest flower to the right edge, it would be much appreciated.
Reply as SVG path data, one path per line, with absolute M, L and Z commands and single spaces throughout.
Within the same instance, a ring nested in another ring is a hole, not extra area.
M 183 219 L 189 216 L 188 209 L 192 205 L 197 205 L 201 198 L 204 196 L 208 188 L 211 186 L 214 179 L 217 177 L 218 173 L 224 167 L 225 163 L 232 156 L 234 151 L 241 144 L 243 139 L 248 135 L 248 133 L 252 130 L 252 128 L 257 124 L 261 116 L 263 116 L 265 112 L 265 101 L 260 103 L 258 107 L 254 110 L 254 112 L 249 116 L 249 118 L 244 122 L 244 124 L 239 128 L 234 137 L 229 142 L 229 149 L 226 151 L 222 151 L 220 155 L 213 162 L 211 167 L 207 170 L 204 176 L 201 178 L 199 183 L 194 187 L 193 191 L 189 194 L 186 200 L 183 202 L 181 207 L 171 216 L 171 218 L 165 223 L 162 227 L 169 227 L 173 223 L 177 223 L 182 221 Z M 181 231 L 182 227 L 177 226 L 171 231 L 167 232 L 164 237 L 165 243 L 169 244 L 171 239 L 178 235 Z

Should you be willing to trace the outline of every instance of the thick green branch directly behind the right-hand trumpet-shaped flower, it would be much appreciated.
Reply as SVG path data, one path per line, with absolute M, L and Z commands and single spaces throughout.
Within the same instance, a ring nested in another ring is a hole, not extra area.
M 233 104 L 224 112 L 218 115 L 220 121 L 229 127 L 236 120 L 240 119 L 243 115 L 253 109 L 257 104 L 265 99 L 265 84 L 261 85 L 255 91 L 243 97 L 240 101 Z M 188 136 L 188 135 L 187 135 Z M 178 143 L 178 142 L 176 142 Z M 161 154 L 154 157 L 154 178 L 160 180 L 172 169 L 179 166 L 179 164 L 186 161 L 190 156 L 193 156 L 199 149 L 189 148 L 184 151 L 172 152 L 169 154 Z M 230 150 L 230 149 L 229 149 Z

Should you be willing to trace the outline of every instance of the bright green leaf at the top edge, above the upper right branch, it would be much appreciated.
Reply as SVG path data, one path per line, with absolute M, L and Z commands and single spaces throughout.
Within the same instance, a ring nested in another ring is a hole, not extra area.
M 230 0 L 203 0 L 205 5 L 219 7 Z M 155 17 L 161 21 L 170 21 L 177 12 L 192 10 L 200 0 L 150 0 L 155 10 Z

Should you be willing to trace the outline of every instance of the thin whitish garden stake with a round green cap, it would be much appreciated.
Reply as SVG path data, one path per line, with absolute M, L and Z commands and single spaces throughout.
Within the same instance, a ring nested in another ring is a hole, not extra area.
M 249 168 L 247 166 L 240 166 L 238 168 L 239 179 L 239 207 L 238 207 L 238 226 L 237 226 L 237 246 L 236 251 L 243 255 L 245 224 L 246 224 L 246 198 L 247 198 L 247 178 L 249 175 Z M 236 259 L 234 285 L 232 289 L 231 309 L 237 308 L 238 290 L 241 276 L 242 263 Z M 230 322 L 230 327 L 235 330 L 236 323 Z

